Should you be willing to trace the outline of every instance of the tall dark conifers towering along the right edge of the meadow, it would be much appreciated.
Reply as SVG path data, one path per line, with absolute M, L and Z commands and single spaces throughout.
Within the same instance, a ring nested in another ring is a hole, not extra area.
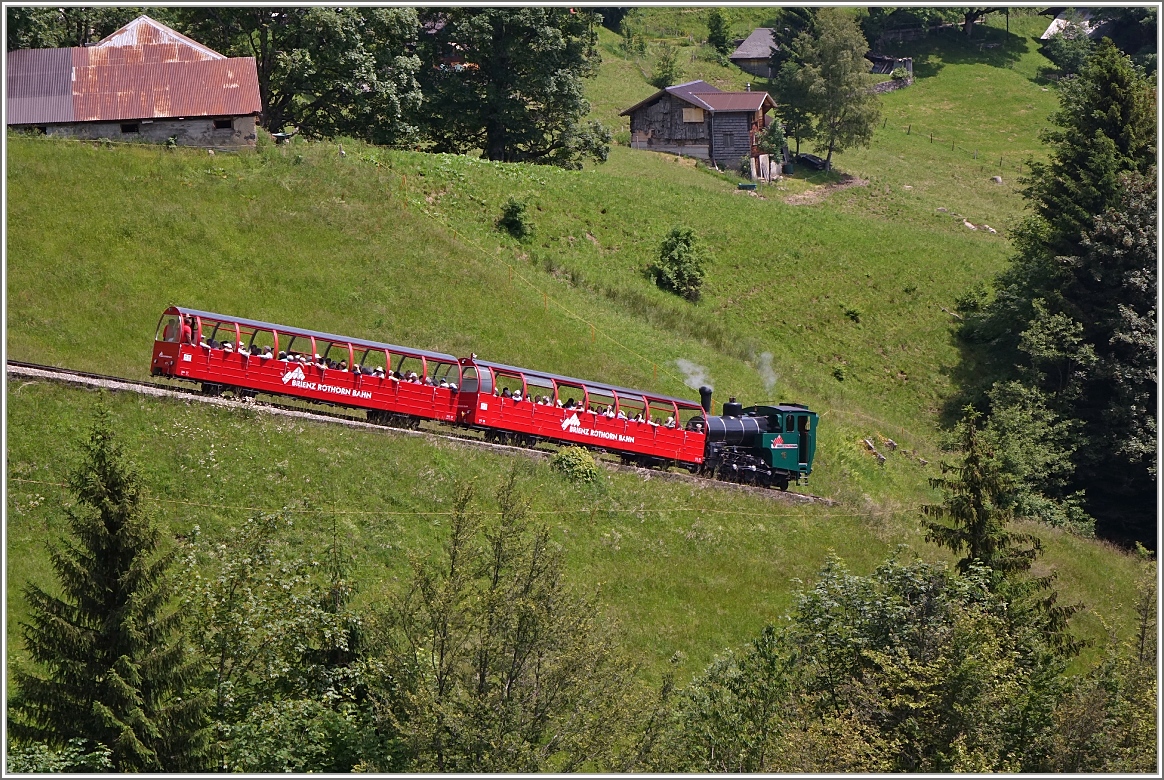
M 1109 41 L 1063 84 L 1050 161 L 1027 179 L 1034 214 L 994 299 L 963 299 L 961 333 L 988 350 L 991 370 L 970 390 L 986 396 L 992 425 L 1056 465 L 1020 474 L 1046 499 L 1032 515 L 1078 524 L 1083 505 L 1105 536 L 1155 545 L 1152 95 Z

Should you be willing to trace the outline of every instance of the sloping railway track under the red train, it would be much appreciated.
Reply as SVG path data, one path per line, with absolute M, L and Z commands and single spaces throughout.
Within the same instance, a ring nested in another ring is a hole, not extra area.
M 148 395 L 158 398 L 183 398 L 185 400 L 194 400 L 204 404 L 210 404 L 212 406 L 226 406 L 229 409 L 253 409 L 270 414 L 297 417 L 301 419 L 317 420 L 322 423 L 334 423 L 340 425 L 347 425 L 349 427 L 369 428 L 375 431 L 389 431 L 392 433 L 398 433 L 404 435 L 425 437 L 428 439 L 438 439 L 448 442 L 463 444 L 473 447 L 481 447 L 495 452 L 520 453 L 533 458 L 548 458 L 554 452 L 551 449 L 539 449 L 537 447 L 514 447 L 511 445 L 485 441 L 483 438 L 474 435 L 473 433 L 466 431 L 455 431 L 450 426 L 440 423 L 433 423 L 430 420 L 423 420 L 420 425 L 416 428 L 398 427 L 393 425 L 382 425 L 378 423 L 369 423 L 361 414 L 360 410 L 348 410 L 339 406 L 328 409 L 324 404 L 315 404 L 310 402 L 291 402 L 288 398 L 279 396 L 267 396 L 260 393 L 260 396 L 256 398 L 240 398 L 240 399 L 223 398 L 221 396 L 204 395 L 200 389 L 191 388 L 185 384 L 180 384 L 178 382 L 126 380 L 122 377 L 108 376 L 105 374 L 93 374 L 91 371 L 77 371 L 73 369 L 59 368 L 56 366 L 42 366 L 40 363 L 29 363 L 16 360 L 7 361 L 6 369 L 9 377 L 21 377 L 34 381 L 44 380 L 49 382 L 63 382 L 66 384 L 76 384 L 87 388 L 104 388 L 106 390 L 114 390 L 122 392 L 137 392 L 141 395 Z M 697 484 L 700 487 L 707 487 L 707 488 L 738 490 L 776 501 L 785 501 L 793 503 L 817 503 L 817 504 L 825 504 L 829 506 L 837 504 L 837 502 L 833 501 L 832 498 L 824 498 L 822 496 L 814 496 L 811 494 L 795 492 L 790 490 L 779 491 L 779 490 L 772 490 L 769 488 L 758 488 L 754 485 L 738 484 L 736 482 L 711 480 L 708 477 L 696 476 L 694 474 L 687 474 L 682 471 L 646 469 L 638 466 L 629 466 L 625 463 L 620 463 L 617 460 L 611 460 L 610 458 L 603 458 L 601 455 L 597 456 L 595 460 L 597 460 L 606 468 L 617 471 L 638 474 L 644 478 L 665 478 L 680 482 L 688 482 L 691 484 Z

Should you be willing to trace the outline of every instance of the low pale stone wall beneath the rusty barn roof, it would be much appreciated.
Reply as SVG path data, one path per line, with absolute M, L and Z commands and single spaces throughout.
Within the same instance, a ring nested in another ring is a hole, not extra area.
M 223 126 L 225 127 L 221 127 Z M 236 149 L 255 146 L 254 116 L 197 116 L 191 119 L 127 120 L 123 122 L 66 122 L 17 125 L 17 130 L 40 130 L 87 141 L 109 139 L 140 143 L 166 143 L 171 137 L 183 147 Z

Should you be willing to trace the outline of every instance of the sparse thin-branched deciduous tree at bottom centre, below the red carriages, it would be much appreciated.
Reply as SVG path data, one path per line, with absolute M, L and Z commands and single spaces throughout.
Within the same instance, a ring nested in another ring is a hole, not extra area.
M 630 669 L 594 602 L 566 586 L 562 552 L 530 524 L 516 478 L 498 488 L 491 522 L 462 489 L 442 554 L 412 559 L 406 591 L 382 616 L 382 729 L 399 735 L 407 760 L 375 768 L 610 766 Z

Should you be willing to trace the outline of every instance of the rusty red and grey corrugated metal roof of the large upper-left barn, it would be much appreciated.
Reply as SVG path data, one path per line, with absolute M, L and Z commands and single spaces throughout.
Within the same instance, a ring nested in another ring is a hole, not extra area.
M 253 57 L 141 16 L 95 47 L 8 52 L 8 125 L 257 114 Z

